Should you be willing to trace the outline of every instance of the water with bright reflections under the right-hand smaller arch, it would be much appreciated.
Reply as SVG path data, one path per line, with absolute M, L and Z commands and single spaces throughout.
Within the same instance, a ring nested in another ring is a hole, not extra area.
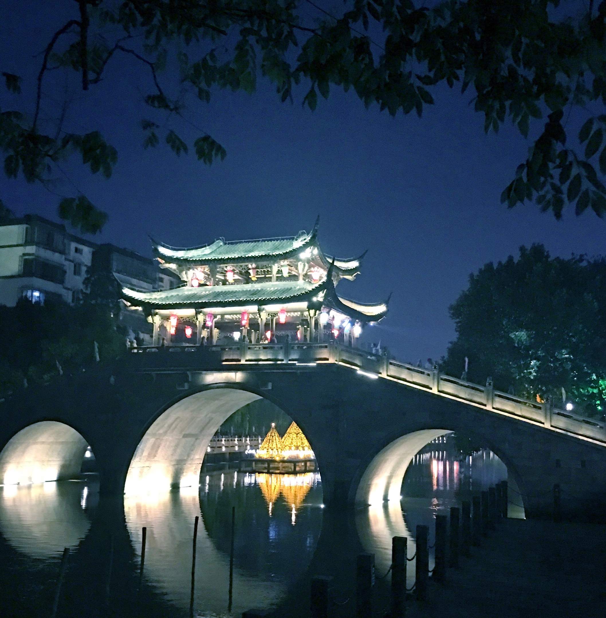
M 433 445 L 430 445 L 433 446 Z M 435 447 L 434 447 L 435 448 Z M 404 475 L 402 499 L 383 502 L 356 512 L 356 528 L 364 550 L 375 554 L 377 572 L 382 575 L 391 564 L 391 538 L 408 538 L 408 555 L 416 551 L 417 525 L 429 527 L 433 544 L 435 515 L 448 514 L 451 506 L 471 501 L 472 494 L 507 480 L 507 468 L 493 452 L 485 449 L 460 458 L 446 450 L 415 455 Z M 523 517 L 523 509 L 510 504 L 510 517 Z M 429 568 L 433 568 L 430 549 Z M 408 586 L 414 582 L 414 561 L 408 566 Z

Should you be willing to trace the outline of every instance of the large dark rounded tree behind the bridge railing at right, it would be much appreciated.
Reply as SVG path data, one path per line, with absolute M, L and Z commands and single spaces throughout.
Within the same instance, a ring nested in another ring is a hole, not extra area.
M 467 379 L 578 412 L 602 416 L 606 402 L 606 260 L 550 257 L 543 245 L 521 247 L 469 276 L 450 307 L 456 340 L 442 369 Z M 564 389 L 564 392 L 562 391 Z

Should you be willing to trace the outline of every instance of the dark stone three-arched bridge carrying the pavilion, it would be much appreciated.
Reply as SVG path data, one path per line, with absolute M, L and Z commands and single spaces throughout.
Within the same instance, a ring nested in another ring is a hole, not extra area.
M 102 494 L 197 485 L 211 436 L 265 397 L 309 439 L 329 506 L 399 500 L 406 467 L 450 431 L 508 468 L 527 515 L 604 517 L 606 428 L 547 404 L 334 344 L 140 348 L 0 404 L 0 481 L 73 478 L 87 445 Z

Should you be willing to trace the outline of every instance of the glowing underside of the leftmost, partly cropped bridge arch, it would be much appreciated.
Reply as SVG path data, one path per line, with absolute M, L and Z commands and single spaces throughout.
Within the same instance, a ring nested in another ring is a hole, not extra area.
M 0 452 L 4 485 L 61 481 L 79 475 L 87 442 L 59 421 L 40 421 L 23 428 Z

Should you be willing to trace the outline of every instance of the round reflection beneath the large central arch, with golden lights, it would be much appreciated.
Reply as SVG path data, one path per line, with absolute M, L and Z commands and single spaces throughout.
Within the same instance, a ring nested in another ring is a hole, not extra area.
M 249 607 L 275 606 L 314 553 L 322 527 L 319 476 L 210 473 L 202 476 L 199 491 L 199 496 L 198 488 L 181 488 L 125 497 L 127 527 L 137 554 L 142 527 L 147 527 L 147 581 L 177 606 L 189 607 L 194 518 L 201 515 L 194 607 L 226 614 L 235 506 L 233 615 Z

